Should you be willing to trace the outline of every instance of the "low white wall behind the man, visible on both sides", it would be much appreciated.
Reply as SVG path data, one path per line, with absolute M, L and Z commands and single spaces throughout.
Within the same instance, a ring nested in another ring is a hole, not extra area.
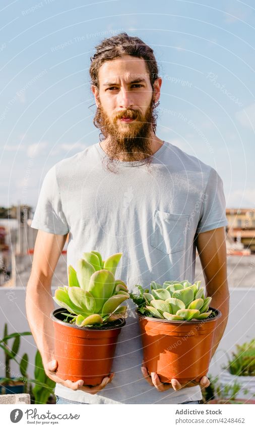
M 54 288 L 55 289 L 55 288 Z M 209 372 L 218 375 L 221 365 L 227 362 L 224 351 L 231 355 L 235 344 L 242 344 L 255 337 L 255 289 L 230 289 L 230 312 L 226 330 L 219 347 L 212 358 Z M 24 288 L 0 288 L 0 337 L 3 338 L 5 322 L 9 332 L 30 330 L 25 312 Z M 36 346 L 32 336 L 21 339 L 19 355 L 29 355 L 29 375 L 33 375 Z M 19 357 L 20 359 L 20 357 Z M 4 354 L 0 349 L 0 376 L 4 375 Z M 18 372 L 18 367 L 12 362 L 12 369 Z M 14 375 L 15 376 L 15 375 Z

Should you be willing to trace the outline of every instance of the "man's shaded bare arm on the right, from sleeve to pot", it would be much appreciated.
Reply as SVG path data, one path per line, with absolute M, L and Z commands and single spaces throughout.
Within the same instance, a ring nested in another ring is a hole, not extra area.
M 210 306 L 222 313 L 214 334 L 213 356 L 226 328 L 229 313 L 224 227 L 198 234 L 196 246 L 205 277 L 207 296 L 212 297 Z

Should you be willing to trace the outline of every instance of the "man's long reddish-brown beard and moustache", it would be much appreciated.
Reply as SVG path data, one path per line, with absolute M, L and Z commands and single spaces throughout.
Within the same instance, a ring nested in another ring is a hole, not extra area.
M 94 118 L 94 125 L 100 129 L 100 141 L 107 138 L 107 157 L 104 162 L 110 171 L 115 171 L 118 159 L 123 161 L 144 161 L 150 165 L 153 157 L 151 141 L 156 131 L 157 105 L 152 97 L 146 112 L 126 109 L 118 112 L 113 118 L 109 118 L 103 110 L 100 100 Z M 120 122 L 121 118 L 135 119 L 133 122 Z

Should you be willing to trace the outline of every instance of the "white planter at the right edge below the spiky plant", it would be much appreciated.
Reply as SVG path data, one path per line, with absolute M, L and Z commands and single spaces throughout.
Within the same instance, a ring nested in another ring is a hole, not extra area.
M 221 373 L 220 383 L 222 387 L 233 386 L 234 383 L 240 385 L 240 390 L 236 395 L 236 399 L 251 399 L 255 395 L 255 377 L 251 375 L 234 375 L 225 370 Z M 246 392 L 248 391 L 248 392 Z M 241 400 L 240 399 L 240 400 Z

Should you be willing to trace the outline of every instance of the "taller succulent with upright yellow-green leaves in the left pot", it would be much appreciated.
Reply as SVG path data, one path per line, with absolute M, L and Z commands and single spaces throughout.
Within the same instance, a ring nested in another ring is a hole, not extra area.
M 71 323 L 78 326 L 102 325 L 126 317 L 129 298 L 122 280 L 115 279 L 115 271 L 122 253 L 111 255 L 105 261 L 99 252 L 85 252 L 77 261 L 77 270 L 68 267 L 68 286 L 55 291 L 54 301 L 70 314 Z

